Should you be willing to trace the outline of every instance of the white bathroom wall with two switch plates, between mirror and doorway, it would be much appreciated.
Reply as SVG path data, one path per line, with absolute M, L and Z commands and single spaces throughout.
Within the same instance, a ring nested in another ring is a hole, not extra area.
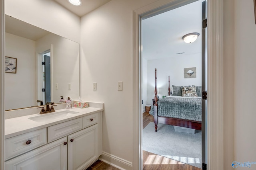
M 81 18 L 81 97 L 104 102 L 103 151 L 127 164 L 133 161 L 133 10 L 154 1 L 112 0 Z

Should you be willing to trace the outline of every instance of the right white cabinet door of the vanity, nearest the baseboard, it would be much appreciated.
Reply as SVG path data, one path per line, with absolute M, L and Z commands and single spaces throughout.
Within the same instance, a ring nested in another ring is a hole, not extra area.
M 69 170 L 83 170 L 98 156 L 98 124 L 68 136 Z

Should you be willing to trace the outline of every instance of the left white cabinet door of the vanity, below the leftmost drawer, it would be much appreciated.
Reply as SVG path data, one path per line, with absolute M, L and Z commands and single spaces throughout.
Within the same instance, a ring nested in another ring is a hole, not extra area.
M 5 170 L 67 170 L 67 146 L 64 137 L 48 145 L 5 162 Z

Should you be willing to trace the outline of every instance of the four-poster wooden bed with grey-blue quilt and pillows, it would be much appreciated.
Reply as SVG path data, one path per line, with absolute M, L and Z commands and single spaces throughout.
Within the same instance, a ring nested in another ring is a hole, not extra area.
M 156 79 L 155 70 L 155 101 L 157 101 Z M 173 88 L 175 88 L 173 89 L 173 92 L 178 89 L 177 92 L 180 93 L 181 88 L 184 91 L 186 88 L 191 90 L 192 87 L 173 86 Z M 200 90 L 200 86 L 196 87 Z M 196 90 L 196 88 L 192 89 Z M 197 93 L 201 94 L 198 90 Z M 197 97 L 182 97 L 180 94 L 176 96 L 175 94 L 172 94 L 170 96 L 170 76 L 168 91 L 169 96 L 155 102 L 154 106 L 150 109 L 150 114 L 154 115 L 155 131 L 157 132 L 158 123 L 201 130 L 202 98 L 198 97 L 200 95 L 196 95 Z

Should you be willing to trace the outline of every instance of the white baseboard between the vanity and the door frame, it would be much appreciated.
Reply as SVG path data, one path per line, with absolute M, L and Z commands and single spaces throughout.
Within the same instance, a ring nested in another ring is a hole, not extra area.
M 132 170 L 132 162 L 129 162 L 107 152 L 102 152 L 102 155 L 99 157 L 99 160 L 107 164 L 110 164 L 120 170 Z

